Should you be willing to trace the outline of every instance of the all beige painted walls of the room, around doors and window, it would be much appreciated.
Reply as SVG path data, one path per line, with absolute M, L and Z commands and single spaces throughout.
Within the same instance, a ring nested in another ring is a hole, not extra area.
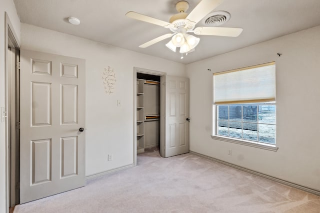
M 20 23 L 11 0 L 0 1 L 15 33 Z M 18 38 L 19 39 L 19 38 Z M 190 150 L 320 190 L 320 26 L 192 64 L 148 56 L 72 35 L 21 24 L 21 48 L 86 60 L 86 175 L 133 163 L 133 67 L 190 78 Z M 4 50 L 4 40 L 0 40 Z M 276 55 L 282 53 L 281 57 Z M 212 72 L 276 62 L 277 152 L 212 140 Z M 4 51 L 0 51 L 0 106 L 4 106 Z M 114 68 L 116 88 L 103 90 L 104 68 Z M 207 69 L 211 69 L 208 72 Z M 199 95 L 201 94 L 201 95 Z M 116 106 L 116 100 L 121 106 Z M 0 123 L 0 212 L 5 211 L 4 124 Z M 227 150 L 232 149 L 232 156 Z M 111 162 L 107 154 L 113 155 Z

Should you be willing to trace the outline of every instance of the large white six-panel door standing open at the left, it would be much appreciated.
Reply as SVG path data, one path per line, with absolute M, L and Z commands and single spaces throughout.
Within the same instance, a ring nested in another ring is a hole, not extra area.
M 20 203 L 84 186 L 85 61 L 20 52 Z

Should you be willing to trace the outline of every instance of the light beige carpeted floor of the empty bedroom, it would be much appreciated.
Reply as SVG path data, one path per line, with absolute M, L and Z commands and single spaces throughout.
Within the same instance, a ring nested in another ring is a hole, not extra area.
M 192 155 L 137 166 L 18 205 L 14 213 L 320 213 L 320 197 Z

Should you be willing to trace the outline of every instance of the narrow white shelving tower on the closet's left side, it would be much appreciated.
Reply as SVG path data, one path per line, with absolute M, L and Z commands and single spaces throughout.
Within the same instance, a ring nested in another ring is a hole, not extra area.
M 144 152 L 144 80 L 136 79 L 136 142 L 137 154 Z

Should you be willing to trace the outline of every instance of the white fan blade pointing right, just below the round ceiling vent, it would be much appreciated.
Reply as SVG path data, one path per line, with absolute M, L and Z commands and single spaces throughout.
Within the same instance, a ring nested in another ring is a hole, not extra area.
M 196 35 L 218 35 L 218 36 L 229 36 L 229 37 L 237 37 L 241 32 L 242 28 L 235 27 L 208 27 L 208 26 L 200 26 L 196 27 L 193 32 Z

